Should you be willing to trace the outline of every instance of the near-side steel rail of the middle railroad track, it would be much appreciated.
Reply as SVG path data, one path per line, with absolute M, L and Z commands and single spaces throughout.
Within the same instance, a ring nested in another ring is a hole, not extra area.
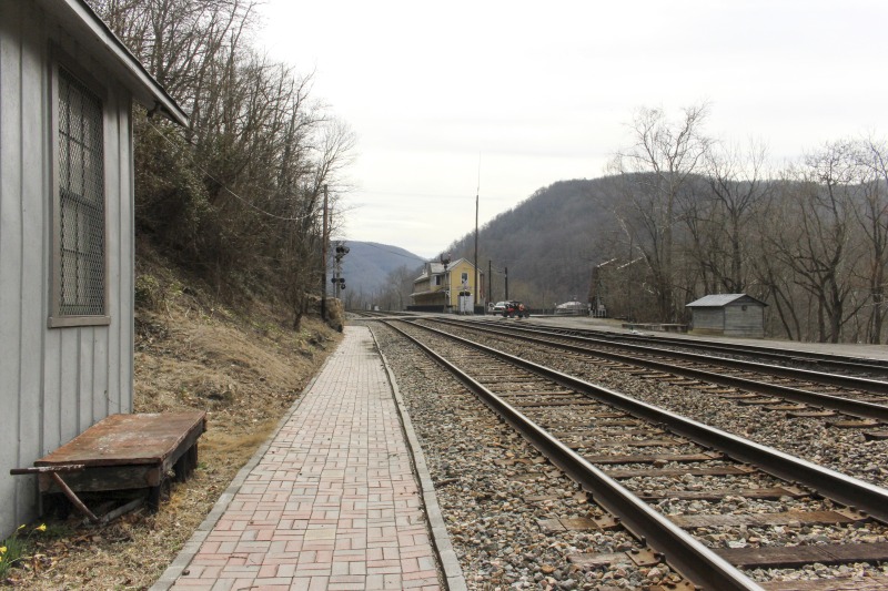
M 444 322 L 445 324 L 448 324 L 451 326 L 465 327 L 465 325 L 461 323 L 447 323 L 446 320 L 438 320 L 438 322 Z M 574 353 L 592 354 L 595 355 L 596 357 L 609 359 L 612 361 L 632 364 L 639 367 L 645 367 L 647 369 L 655 369 L 657 371 L 664 371 L 687 378 L 709 381 L 713 384 L 718 384 L 720 386 L 727 386 L 731 388 L 743 388 L 753 391 L 758 391 L 760 394 L 767 394 L 770 396 L 779 396 L 781 398 L 786 398 L 788 400 L 794 400 L 797 403 L 805 403 L 813 406 L 829 408 L 831 410 L 838 410 L 839 412 L 845 412 L 846 415 L 851 415 L 855 417 L 872 418 L 888 422 L 888 406 L 880 405 L 877 403 L 854 400 L 850 398 L 844 398 L 841 396 L 834 396 L 830 394 L 803 390 L 800 388 L 781 386 L 779 384 L 768 384 L 766 381 L 758 381 L 755 379 L 743 378 L 737 376 L 726 376 L 724 374 L 716 374 L 713 371 L 707 371 L 705 369 L 695 369 L 693 367 L 674 366 L 663 361 L 656 361 L 654 359 L 645 359 L 640 357 L 633 357 L 630 355 L 620 355 L 618 353 L 608 353 L 598 349 L 589 349 L 586 347 L 568 345 L 566 343 L 557 343 L 554 340 L 547 340 L 545 338 L 538 338 L 527 335 L 515 335 L 514 333 L 497 330 L 486 326 L 484 327 L 474 326 L 474 328 L 482 329 L 495 335 L 498 334 L 498 335 L 523 338 L 531 343 L 554 346 Z M 514 330 L 527 332 L 527 329 L 524 328 L 514 328 Z M 538 332 L 535 330 L 529 330 L 529 332 L 538 334 Z M 572 338 L 582 338 L 582 337 L 572 337 Z M 718 359 L 718 361 L 722 359 Z

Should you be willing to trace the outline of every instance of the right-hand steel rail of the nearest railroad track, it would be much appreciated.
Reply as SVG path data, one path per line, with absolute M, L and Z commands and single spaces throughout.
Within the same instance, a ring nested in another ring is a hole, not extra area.
M 413 324 L 413 323 L 410 323 Z M 535 364 L 521 357 L 487 347 L 480 343 L 450 335 L 428 326 L 413 324 L 435 334 L 446 336 L 467 346 L 484 350 L 508 363 L 545 376 L 562 386 L 588 394 L 624 411 L 652 422 L 658 422 L 675 434 L 682 435 L 703 446 L 722 451 L 737 461 L 751 463 L 764 471 L 793 482 L 817 490 L 842 505 L 866 512 L 879 521 L 888 523 L 888 490 L 857 478 L 824 468 L 801 458 L 796 458 L 774 448 L 756 444 L 743 437 L 716 429 L 654 405 L 636 400 L 625 394 L 597 386 L 562 371 Z

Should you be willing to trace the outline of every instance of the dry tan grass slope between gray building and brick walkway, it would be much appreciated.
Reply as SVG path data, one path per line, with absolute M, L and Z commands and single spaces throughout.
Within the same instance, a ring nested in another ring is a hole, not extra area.
M 137 510 L 93 527 L 49 522 L 29 559 L 0 584 L 24 589 L 147 589 L 190 538 L 238 470 L 269 437 L 331 353 L 339 334 L 316 317 L 287 328 L 273 310 L 235 315 L 195 289 L 153 279 L 137 316 L 137 412 L 203 409 L 199 469 L 173 483 L 158 513 Z

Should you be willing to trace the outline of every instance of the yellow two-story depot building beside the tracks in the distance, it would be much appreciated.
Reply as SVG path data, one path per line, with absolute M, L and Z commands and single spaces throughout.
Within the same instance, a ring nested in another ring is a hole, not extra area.
M 453 314 L 483 314 L 484 274 L 478 272 L 478 289 L 475 289 L 475 265 L 465 258 L 445 264 L 430 261 L 422 275 L 413 279 L 413 305 L 416 312 L 445 312 Z

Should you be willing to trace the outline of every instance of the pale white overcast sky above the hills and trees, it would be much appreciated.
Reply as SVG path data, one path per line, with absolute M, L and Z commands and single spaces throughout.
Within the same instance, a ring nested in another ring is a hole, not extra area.
M 344 237 L 436 257 L 605 174 L 637 108 L 708 102 L 709 134 L 780 163 L 888 134 L 885 0 L 265 0 L 256 43 L 357 136 Z M 480 171 L 480 173 L 478 173 Z

